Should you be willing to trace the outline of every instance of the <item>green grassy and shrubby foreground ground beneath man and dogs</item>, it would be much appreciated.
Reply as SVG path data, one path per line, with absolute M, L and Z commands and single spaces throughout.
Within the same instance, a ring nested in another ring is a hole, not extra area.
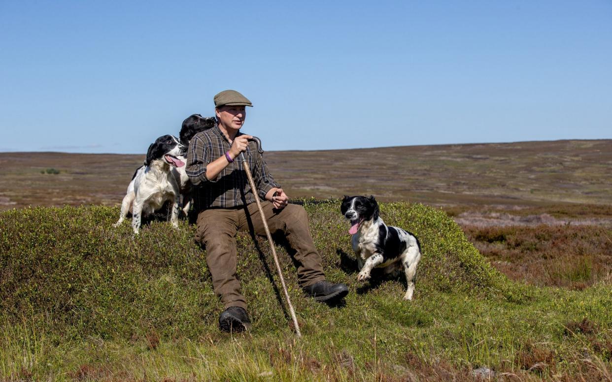
M 266 241 L 239 235 L 253 328 L 218 331 L 194 227 L 153 221 L 133 237 L 118 208 L 24 208 L 0 215 L 0 380 L 610 380 L 612 293 L 510 281 L 444 211 L 381 205 L 422 243 L 414 301 L 401 279 L 360 284 L 335 201 L 306 203 L 327 277 L 344 305 L 316 303 L 282 259 L 304 337 L 289 328 Z M 506 237 L 507 240 L 507 237 Z M 607 379 L 606 379 L 607 378 Z

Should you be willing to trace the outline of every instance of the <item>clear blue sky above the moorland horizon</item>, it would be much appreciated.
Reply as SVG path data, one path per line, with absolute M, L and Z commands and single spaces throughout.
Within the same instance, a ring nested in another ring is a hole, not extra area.
M 0 1 L 0 151 L 145 153 L 212 97 L 266 150 L 612 138 L 612 1 Z

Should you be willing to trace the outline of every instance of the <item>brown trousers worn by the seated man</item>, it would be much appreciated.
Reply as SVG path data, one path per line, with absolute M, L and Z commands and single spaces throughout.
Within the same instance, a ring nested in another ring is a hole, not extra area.
M 285 233 L 289 246 L 296 251 L 297 279 L 301 287 L 325 279 L 321 257 L 316 251 L 308 215 L 304 207 L 289 204 L 275 210 L 271 202 L 261 203 L 270 232 Z M 252 229 L 252 230 L 251 230 Z M 236 279 L 236 232 L 247 230 L 266 235 L 256 203 L 241 208 L 211 208 L 200 211 L 195 238 L 206 246 L 206 263 L 212 275 L 212 287 L 225 307 L 240 306 L 247 309 L 247 302 L 240 293 Z

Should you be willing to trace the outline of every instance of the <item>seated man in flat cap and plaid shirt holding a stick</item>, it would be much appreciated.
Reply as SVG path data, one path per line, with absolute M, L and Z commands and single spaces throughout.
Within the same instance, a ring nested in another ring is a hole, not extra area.
M 282 232 L 296 251 L 300 286 L 318 301 L 341 299 L 348 293 L 345 284 L 326 281 L 316 251 L 308 216 L 303 207 L 288 204 L 288 196 L 269 173 L 253 138 L 241 133 L 246 106 L 253 106 L 236 90 L 215 95 L 217 126 L 196 134 L 187 152 L 187 175 L 197 189 L 194 208 L 198 213 L 196 240 L 206 246 L 206 263 L 212 286 L 225 310 L 219 316 L 224 331 L 242 331 L 250 325 L 247 302 L 236 279 L 236 232 L 252 230 L 265 235 L 254 192 L 259 193 L 267 224 L 272 233 Z M 250 189 L 243 163 L 244 153 L 252 170 L 256 190 Z

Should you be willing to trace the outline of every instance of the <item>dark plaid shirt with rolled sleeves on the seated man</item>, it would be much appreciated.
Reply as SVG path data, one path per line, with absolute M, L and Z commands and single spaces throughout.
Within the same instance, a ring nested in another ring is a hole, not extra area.
M 217 178 L 211 180 L 206 177 L 206 165 L 220 156 L 225 156 L 230 147 L 230 141 L 217 126 L 195 134 L 189 142 L 185 171 L 189 180 L 196 186 L 193 193 L 196 211 L 210 207 L 234 208 L 255 202 L 240 156 L 228 164 Z M 258 152 L 255 142 L 249 142 L 244 156 L 259 191 L 259 199 L 264 200 L 268 191 L 280 186 L 268 172 L 266 162 Z

